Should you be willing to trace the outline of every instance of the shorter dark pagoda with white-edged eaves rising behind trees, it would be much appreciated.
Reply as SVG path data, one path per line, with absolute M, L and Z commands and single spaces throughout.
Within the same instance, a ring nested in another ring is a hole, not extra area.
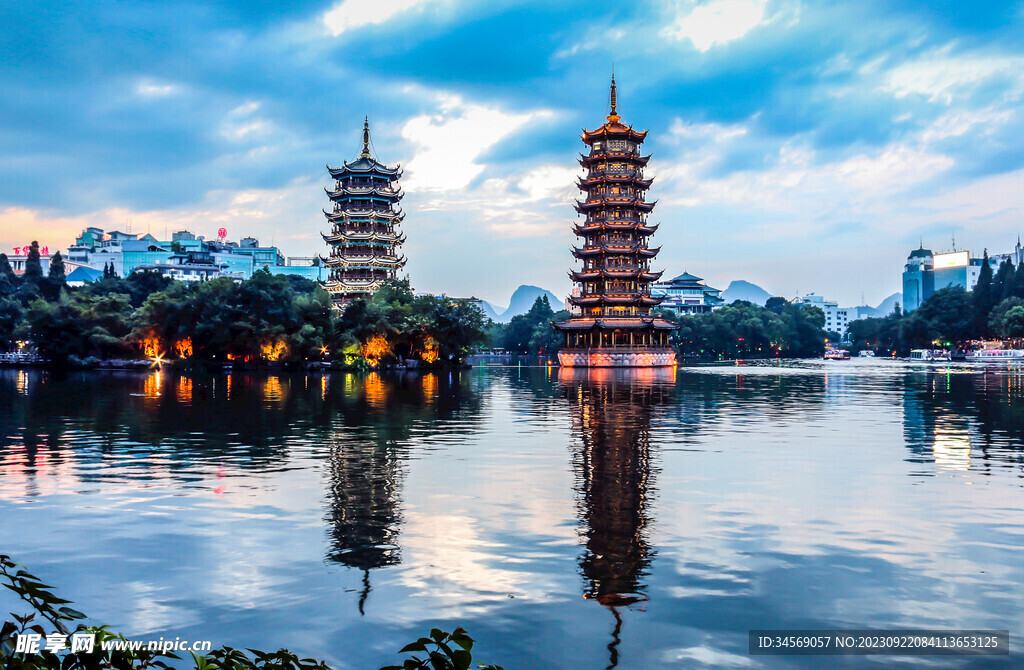
M 321 234 L 331 251 L 321 260 L 330 271 L 324 288 L 337 307 L 369 297 L 406 266 L 398 247 L 406 236 L 398 224 L 406 217 L 399 207 L 404 193 L 398 186 L 399 166 L 388 167 L 370 153 L 370 123 L 362 126 L 362 152 L 352 163 L 327 167 L 335 179 L 325 189 L 334 203 L 324 211 L 330 234 Z

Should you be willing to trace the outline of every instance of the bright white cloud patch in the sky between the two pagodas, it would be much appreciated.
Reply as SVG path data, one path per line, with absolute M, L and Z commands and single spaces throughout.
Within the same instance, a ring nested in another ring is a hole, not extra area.
M 524 125 L 552 116 L 544 110 L 507 114 L 457 96 L 440 99 L 439 114 L 414 117 L 401 129 L 401 136 L 416 146 L 404 182 L 411 193 L 464 189 L 483 171 L 476 160 L 487 149 Z

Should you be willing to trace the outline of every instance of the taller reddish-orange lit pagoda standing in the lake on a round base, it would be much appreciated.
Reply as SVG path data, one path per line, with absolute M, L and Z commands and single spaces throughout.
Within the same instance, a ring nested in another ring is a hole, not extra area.
M 586 174 L 577 185 L 585 197 L 575 210 L 586 220 L 573 226 L 583 246 L 572 255 L 583 267 L 569 273 L 573 316 L 554 324 L 564 337 L 558 358 L 567 367 L 671 366 L 669 336 L 677 327 L 651 313 L 664 298 L 650 295 L 662 273 L 648 266 L 660 248 L 647 246 L 657 229 L 647 224 L 655 205 L 645 199 L 653 181 L 643 174 L 650 156 L 640 154 L 647 131 L 621 123 L 615 102 L 612 77 L 606 123 L 582 135 L 590 153 L 580 159 Z

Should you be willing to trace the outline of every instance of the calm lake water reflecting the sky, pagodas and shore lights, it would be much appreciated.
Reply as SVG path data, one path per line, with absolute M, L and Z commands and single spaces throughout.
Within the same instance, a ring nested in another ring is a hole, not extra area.
M 0 552 L 131 638 L 374 670 L 1024 661 L 1024 375 L 0 371 Z M 0 595 L 3 613 L 18 611 Z M 1009 629 L 1008 657 L 751 657 L 762 628 Z

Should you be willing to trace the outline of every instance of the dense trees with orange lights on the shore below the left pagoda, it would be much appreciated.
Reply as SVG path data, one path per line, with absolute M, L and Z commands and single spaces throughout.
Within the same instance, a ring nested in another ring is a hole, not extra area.
M 409 280 L 339 311 L 318 284 L 266 270 L 193 283 L 136 271 L 69 287 L 56 255 L 42 276 L 37 247 L 22 277 L 0 254 L 0 351 L 31 351 L 56 368 L 439 368 L 461 366 L 488 340 L 475 305 L 414 295 Z

